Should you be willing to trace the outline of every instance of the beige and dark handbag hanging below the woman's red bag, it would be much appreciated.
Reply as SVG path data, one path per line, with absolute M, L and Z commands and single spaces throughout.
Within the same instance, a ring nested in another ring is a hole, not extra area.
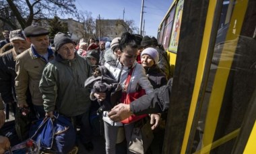
M 143 123 L 143 120 L 141 120 Z M 143 123 L 141 127 L 134 127 L 129 142 L 129 151 L 133 153 L 146 153 L 148 147 L 154 139 L 154 134 L 151 129 L 150 121 Z

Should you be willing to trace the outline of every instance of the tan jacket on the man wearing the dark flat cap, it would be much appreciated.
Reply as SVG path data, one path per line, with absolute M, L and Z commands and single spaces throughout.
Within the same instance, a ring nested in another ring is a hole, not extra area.
M 48 49 L 49 61 L 54 59 L 53 50 Z M 18 104 L 26 104 L 26 92 L 29 88 L 32 96 L 32 103 L 42 105 L 42 94 L 39 90 L 39 82 L 42 76 L 42 70 L 48 62 L 36 53 L 34 47 L 22 52 L 16 57 L 16 78 L 15 90 Z

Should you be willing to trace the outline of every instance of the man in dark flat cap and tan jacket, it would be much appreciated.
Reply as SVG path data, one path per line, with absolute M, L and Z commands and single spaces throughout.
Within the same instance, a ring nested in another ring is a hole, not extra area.
M 47 29 L 38 25 L 30 25 L 24 29 L 24 33 L 31 46 L 16 58 L 15 90 L 18 107 L 28 106 L 26 92 L 29 89 L 36 116 L 41 118 L 45 116 L 45 112 L 39 82 L 42 70 L 49 61 L 54 59 L 54 54 L 49 47 L 49 31 Z

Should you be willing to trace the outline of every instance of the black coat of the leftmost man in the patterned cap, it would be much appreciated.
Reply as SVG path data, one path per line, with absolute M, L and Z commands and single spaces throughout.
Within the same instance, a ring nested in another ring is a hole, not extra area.
M 0 94 L 5 103 L 17 102 L 15 94 L 16 56 L 14 48 L 0 56 Z

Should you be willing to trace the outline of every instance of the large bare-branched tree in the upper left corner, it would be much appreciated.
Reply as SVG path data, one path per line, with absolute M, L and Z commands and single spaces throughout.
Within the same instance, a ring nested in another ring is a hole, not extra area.
M 33 21 L 53 18 L 56 13 L 77 17 L 74 2 L 75 0 L 0 0 L 0 21 L 12 29 L 24 29 L 32 25 Z

